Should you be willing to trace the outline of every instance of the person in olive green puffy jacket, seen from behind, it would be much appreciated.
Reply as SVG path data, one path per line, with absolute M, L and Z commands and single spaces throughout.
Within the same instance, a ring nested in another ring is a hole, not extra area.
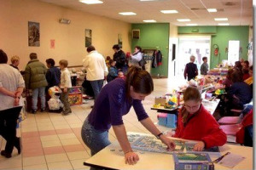
M 41 99 L 41 111 L 45 111 L 45 87 L 48 85 L 45 74 L 46 67 L 38 60 L 38 55 L 32 53 L 29 55 L 25 69 L 25 83 L 26 89 L 32 89 L 32 113 L 38 110 L 38 96 Z

